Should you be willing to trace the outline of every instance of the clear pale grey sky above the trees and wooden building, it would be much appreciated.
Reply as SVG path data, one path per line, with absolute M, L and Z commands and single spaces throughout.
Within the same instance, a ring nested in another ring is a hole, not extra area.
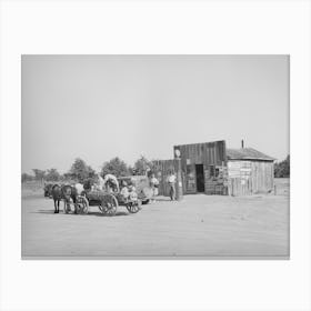
M 289 154 L 288 56 L 22 56 L 22 172 L 225 140 Z

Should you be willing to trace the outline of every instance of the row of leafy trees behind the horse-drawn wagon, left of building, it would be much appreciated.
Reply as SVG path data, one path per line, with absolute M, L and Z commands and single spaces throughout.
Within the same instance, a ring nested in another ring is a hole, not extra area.
M 146 174 L 147 171 L 152 169 L 152 161 L 141 156 L 134 165 L 128 165 L 123 160 L 116 157 L 110 161 L 102 164 L 100 174 L 104 177 L 108 173 L 114 174 L 116 177 L 126 177 L 132 174 Z M 32 169 L 33 174 L 22 173 L 21 181 L 79 181 L 86 182 L 88 179 L 93 179 L 97 174 L 96 170 L 88 165 L 84 160 L 77 158 L 72 163 L 68 172 L 61 174 L 57 169 Z

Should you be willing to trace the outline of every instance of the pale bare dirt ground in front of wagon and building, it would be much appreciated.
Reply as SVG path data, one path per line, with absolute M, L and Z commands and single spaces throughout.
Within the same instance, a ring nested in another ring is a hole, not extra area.
M 288 257 L 288 195 L 184 195 L 120 207 L 116 217 L 53 213 L 41 192 L 22 198 L 22 257 Z M 62 204 L 61 204 L 62 207 Z

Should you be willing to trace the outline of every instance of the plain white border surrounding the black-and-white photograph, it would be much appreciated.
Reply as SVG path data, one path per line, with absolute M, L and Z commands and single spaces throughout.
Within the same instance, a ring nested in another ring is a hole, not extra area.
M 310 310 L 310 34 L 302 0 L 2 1 L 1 309 Z M 290 54 L 291 259 L 22 261 L 23 53 Z

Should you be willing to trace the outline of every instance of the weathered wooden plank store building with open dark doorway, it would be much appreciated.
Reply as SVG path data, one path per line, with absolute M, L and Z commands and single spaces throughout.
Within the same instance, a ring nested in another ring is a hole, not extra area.
M 180 159 L 182 192 L 247 195 L 273 190 L 274 159 L 252 148 L 227 149 L 225 141 L 173 147 L 174 160 L 157 161 L 160 194 L 168 194 L 165 178 Z

